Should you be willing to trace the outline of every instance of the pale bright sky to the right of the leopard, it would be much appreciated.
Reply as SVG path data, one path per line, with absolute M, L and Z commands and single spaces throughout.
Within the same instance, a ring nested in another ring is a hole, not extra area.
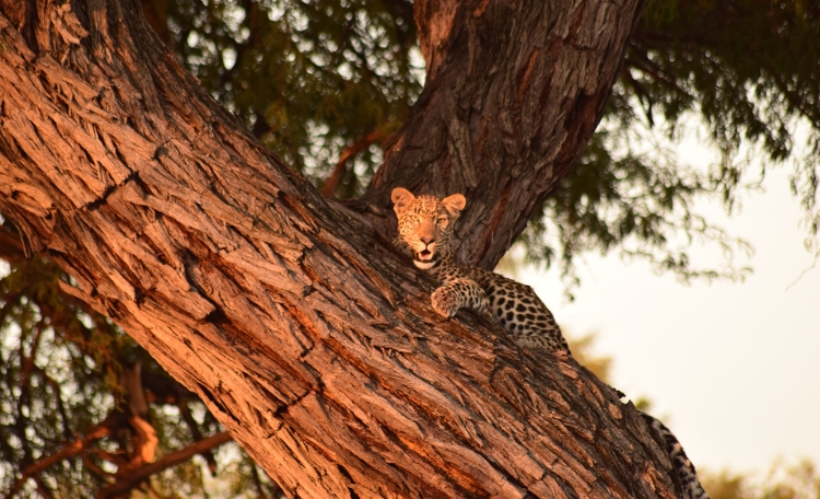
M 679 153 L 690 161 L 704 154 L 691 141 Z M 738 260 L 753 269 L 745 282 L 686 286 L 643 262 L 585 255 L 570 303 L 557 269 L 515 276 L 535 288 L 567 336 L 595 334 L 593 352 L 613 360 L 611 384 L 648 398 L 649 413 L 698 467 L 762 473 L 775 459 L 820 464 L 820 262 L 811 268 L 804 248 L 789 171 L 769 171 L 765 192 L 743 195 L 731 218 L 717 206 L 699 207 L 754 247 Z

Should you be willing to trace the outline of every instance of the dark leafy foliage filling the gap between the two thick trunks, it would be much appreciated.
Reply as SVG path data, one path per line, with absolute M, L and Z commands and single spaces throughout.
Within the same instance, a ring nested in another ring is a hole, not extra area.
M 351 143 L 398 129 L 421 91 L 403 0 L 168 2 L 169 45 L 254 134 L 316 183 Z M 338 195 L 380 163 L 364 148 Z

